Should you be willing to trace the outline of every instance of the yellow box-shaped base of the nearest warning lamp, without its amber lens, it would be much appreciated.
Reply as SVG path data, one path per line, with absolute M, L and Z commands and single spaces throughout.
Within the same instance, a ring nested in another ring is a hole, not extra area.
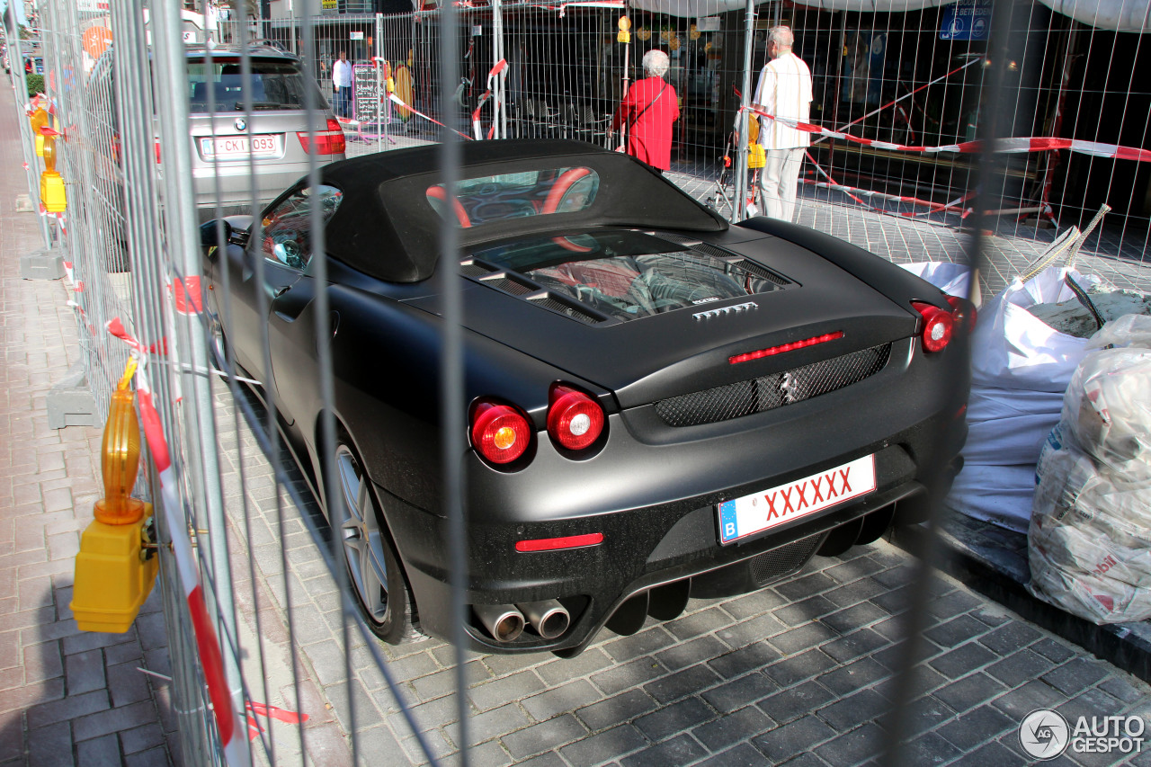
M 81 537 L 69 607 L 81 631 L 123 633 L 152 593 L 159 557 L 143 559 L 145 516 L 127 525 L 93 521 Z

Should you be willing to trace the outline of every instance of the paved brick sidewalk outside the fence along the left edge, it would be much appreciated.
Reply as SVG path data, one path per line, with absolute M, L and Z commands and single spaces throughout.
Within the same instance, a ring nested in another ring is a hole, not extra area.
M 45 396 L 78 359 L 63 282 L 20 279 L 44 245 L 28 193 L 13 93 L 0 85 L 0 765 L 174 764 L 157 594 L 123 635 L 73 621 L 79 532 L 102 494 L 99 428 L 52 430 Z

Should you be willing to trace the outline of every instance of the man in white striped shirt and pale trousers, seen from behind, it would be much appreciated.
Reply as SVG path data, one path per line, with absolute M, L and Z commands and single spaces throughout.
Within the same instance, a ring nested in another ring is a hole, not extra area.
M 811 71 L 792 53 L 794 36 L 786 26 L 776 26 L 768 36 L 767 66 L 760 73 L 755 105 L 770 115 L 808 122 L 811 114 Z M 803 165 L 803 151 L 811 144 L 810 134 L 760 117 L 760 143 L 767 165 L 760 174 L 768 215 L 791 221 L 795 218 L 795 187 Z

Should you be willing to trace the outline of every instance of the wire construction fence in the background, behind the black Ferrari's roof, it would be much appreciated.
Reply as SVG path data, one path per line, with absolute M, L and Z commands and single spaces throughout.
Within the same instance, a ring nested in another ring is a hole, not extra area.
M 942 249 L 969 222 L 985 81 L 1001 73 L 994 111 L 1006 121 L 997 152 L 1006 169 L 986 193 L 994 195 L 990 210 L 999 212 L 996 230 L 1008 250 L 1027 260 L 1051 241 L 1051 229 L 1083 227 L 1107 205 L 1089 249 L 1144 263 L 1151 166 L 1141 147 L 1149 141 L 1151 91 L 1134 75 L 1149 55 L 1137 26 L 1108 29 L 1105 18 L 1092 26 L 1091 18 L 1065 16 L 1038 0 L 1013 3 L 1001 22 L 1006 45 L 997 60 L 988 48 L 990 2 L 904 3 L 899 10 L 879 3 L 870 13 L 849 2 L 767 2 L 752 14 L 717 0 L 643 8 L 458 5 L 450 51 L 460 69 L 452 82 L 443 82 L 439 68 L 437 9 L 318 16 L 306 22 L 311 48 L 303 45 L 299 20 L 272 18 L 252 29 L 313 58 L 328 93 L 331 62 L 345 50 L 363 71 L 348 113 L 353 152 L 435 141 L 437 123 L 470 137 L 563 136 L 615 145 L 619 131 L 610 136 L 611 119 L 624 88 L 645 76 L 646 51 L 663 50 L 671 60 L 666 81 L 679 101 L 672 172 L 683 174 L 686 189 L 739 219 L 757 204 L 759 170 L 746 179 L 738 172 L 747 138 L 734 129 L 765 63 L 768 31 L 787 24 L 813 74 L 810 121 L 822 129 L 807 152 L 802 198 L 866 212 L 868 220 L 912 218 Z M 617 38 L 625 15 L 627 44 Z M 226 25 L 223 36 L 235 37 L 235 29 Z M 380 83 L 392 75 L 399 101 L 380 106 L 374 98 L 383 93 L 372 90 L 376 68 Z M 453 105 L 447 113 L 440 106 L 444 92 Z M 874 243 L 863 231 L 847 237 Z M 1000 284 L 1009 279 L 999 276 Z

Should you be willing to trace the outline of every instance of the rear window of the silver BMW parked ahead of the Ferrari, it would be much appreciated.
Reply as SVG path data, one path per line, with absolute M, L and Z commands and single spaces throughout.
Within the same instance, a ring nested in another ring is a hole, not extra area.
M 305 78 L 296 62 L 257 56 L 249 61 L 252 73 L 246 81 L 241 75 L 239 56 L 213 58 L 211 66 L 205 60 L 189 61 L 189 112 L 206 113 L 209 94 L 215 97 L 216 112 L 242 111 L 245 90 L 251 93 L 253 111 L 304 108 Z M 318 88 L 313 86 L 312 98 L 318 108 L 328 108 Z

